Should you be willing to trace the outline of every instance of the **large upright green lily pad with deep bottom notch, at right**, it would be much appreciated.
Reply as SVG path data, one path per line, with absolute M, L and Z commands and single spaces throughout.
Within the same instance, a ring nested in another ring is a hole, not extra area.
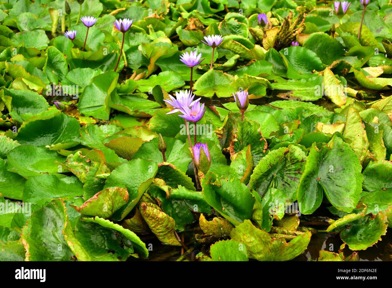
M 361 164 L 338 136 L 321 148 L 312 145 L 297 192 L 302 214 L 314 212 L 323 194 L 339 211 L 351 212 L 362 191 Z

